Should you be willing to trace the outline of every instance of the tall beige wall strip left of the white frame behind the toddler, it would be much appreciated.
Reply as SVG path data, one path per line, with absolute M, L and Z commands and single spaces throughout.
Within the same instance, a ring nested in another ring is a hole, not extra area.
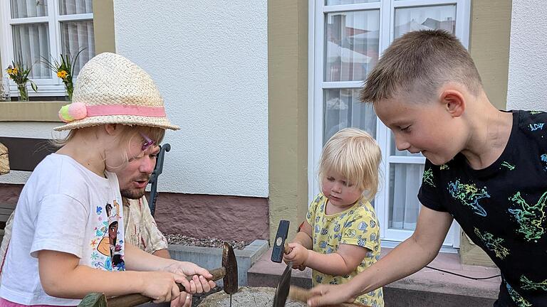
M 270 242 L 308 208 L 308 1 L 268 1 Z

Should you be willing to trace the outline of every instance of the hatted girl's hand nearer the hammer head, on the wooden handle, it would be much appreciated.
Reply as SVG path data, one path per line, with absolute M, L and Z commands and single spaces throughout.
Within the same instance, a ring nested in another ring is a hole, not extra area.
M 173 261 L 172 264 L 165 267 L 164 271 L 170 271 L 182 276 L 192 276 L 192 280 L 190 281 L 187 281 L 186 277 L 184 277 L 184 281 L 179 279 L 175 280 L 182 284 L 188 293 L 209 292 L 217 286 L 214 281 L 207 280 L 213 277 L 209 271 L 192 262 Z

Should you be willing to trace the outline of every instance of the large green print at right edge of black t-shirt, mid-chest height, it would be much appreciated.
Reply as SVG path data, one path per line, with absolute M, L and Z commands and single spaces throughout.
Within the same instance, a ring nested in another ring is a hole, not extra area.
M 517 231 L 521 232 L 524 235 L 524 239 L 527 241 L 534 240 L 534 242 L 537 242 L 537 239 L 541 238 L 545 233 L 542 225 L 545 221 L 547 192 L 541 195 L 541 198 L 539 198 L 535 205 L 528 205 L 526 200 L 522 198 L 520 192 L 517 192 L 510 200 L 520 207 L 508 209 L 516 218 L 516 222 L 519 223 L 520 228 Z

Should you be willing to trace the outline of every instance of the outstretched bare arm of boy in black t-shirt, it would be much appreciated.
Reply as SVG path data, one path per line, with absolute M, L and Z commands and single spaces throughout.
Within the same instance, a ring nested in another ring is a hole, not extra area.
M 419 271 L 437 256 L 451 224 L 452 216 L 448 212 L 422 205 L 416 230 L 410 238 L 347 284 L 316 286 L 311 290 L 313 298 L 308 303 L 310 306 L 342 303 Z

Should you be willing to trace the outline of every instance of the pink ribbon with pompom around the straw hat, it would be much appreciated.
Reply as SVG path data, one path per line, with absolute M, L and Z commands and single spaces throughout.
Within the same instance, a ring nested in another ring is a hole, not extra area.
M 109 115 L 135 115 L 144 117 L 165 117 L 164 107 L 142 107 L 127 104 L 106 104 L 86 106 L 81 102 L 73 102 L 61 107 L 59 118 L 63 122 L 72 122 L 85 117 Z

